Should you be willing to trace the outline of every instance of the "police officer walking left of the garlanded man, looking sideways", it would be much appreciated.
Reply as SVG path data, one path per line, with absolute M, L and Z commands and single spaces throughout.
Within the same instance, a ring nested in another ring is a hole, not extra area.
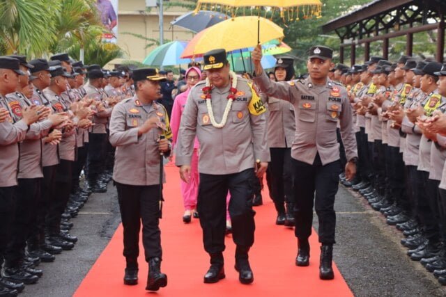
M 110 121 L 110 143 L 116 147 L 113 179 L 118 189 L 124 227 L 127 266 L 124 283 L 137 284 L 140 221 L 143 246 L 149 265 L 146 290 L 166 287 L 167 276 L 160 272 L 160 152 L 170 154 L 171 129 L 167 111 L 155 100 L 160 97 L 161 77 L 155 69 L 134 70 L 136 95 L 118 104 Z M 160 136 L 164 135 L 164 139 Z M 142 158 L 135 156 L 142 155 Z

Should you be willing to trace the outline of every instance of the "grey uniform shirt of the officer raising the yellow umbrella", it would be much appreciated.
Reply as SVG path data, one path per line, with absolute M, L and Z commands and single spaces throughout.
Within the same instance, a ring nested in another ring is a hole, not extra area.
M 272 82 L 265 72 L 255 81 L 268 96 L 291 102 L 295 110 L 295 138 L 291 156 L 312 164 L 319 154 L 323 165 L 339 159 L 336 128 L 340 120 L 341 136 L 348 160 L 357 156 L 351 104 L 347 90 L 330 79 L 315 86 L 311 78 L 288 83 Z

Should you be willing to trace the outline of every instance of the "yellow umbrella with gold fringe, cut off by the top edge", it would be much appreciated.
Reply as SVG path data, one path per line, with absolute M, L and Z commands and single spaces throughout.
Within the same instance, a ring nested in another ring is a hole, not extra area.
M 304 17 L 320 17 L 322 9 L 321 0 L 198 0 L 197 11 L 220 8 L 222 13 L 233 14 L 233 8 L 259 8 L 262 6 L 269 6 L 273 9 L 280 8 L 281 16 L 288 16 L 290 20 L 293 20 L 293 15 L 296 15 L 295 20 L 298 20 L 300 13 Z

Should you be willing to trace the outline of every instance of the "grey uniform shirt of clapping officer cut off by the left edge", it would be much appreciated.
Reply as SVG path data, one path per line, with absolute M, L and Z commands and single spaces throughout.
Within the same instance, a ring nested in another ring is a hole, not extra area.
M 0 95 L 0 106 L 9 111 L 10 119 L 0 122 L 0 187 L 17 186 L 19 142 L 26 137 L 28 126 L 23 120 L 15 122 L 13 113 Z

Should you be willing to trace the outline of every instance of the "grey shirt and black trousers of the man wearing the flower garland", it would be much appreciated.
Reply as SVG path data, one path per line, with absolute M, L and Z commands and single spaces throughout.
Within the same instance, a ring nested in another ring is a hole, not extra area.
M 200 143 L 198 211 L 203 229 L 206 252 L 222 252 L 226 230 L 225 201 L 231 193 L 229 214 L 233 228 L 233 241 L 238 248 L 254 243 L 254 211 L 252 210 L 254 164 L 256 160 L 270 161 L 266 138 L 266 117 L 261 99 L 253 94 L 248 81 L 238 78 L 234 99 L 226 125 L 213 127 L 203 94 L 203 82 L 190 91 L 180 122 L 176 145 L 176 165 L 190 165 L 194 150 L 194 138 Z M 213 88 L 212 108 L 215 121 L 221 122 L 230 86 Z M 253 96 L 254 95 L 254 96 Z M 254 109 L 259 115 L 249 112 L 253 98 L 258 99 Z

